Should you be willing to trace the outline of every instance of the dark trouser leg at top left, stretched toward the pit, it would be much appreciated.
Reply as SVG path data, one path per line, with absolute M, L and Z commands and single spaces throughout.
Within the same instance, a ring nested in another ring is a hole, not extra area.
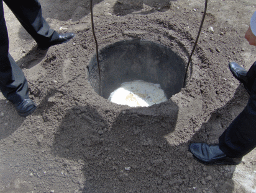
M 38 0 L 4 0 L 4 2 L 38 45 L 44 45 L 58 38 L 59 34 L 50 29 L 43 19 Z

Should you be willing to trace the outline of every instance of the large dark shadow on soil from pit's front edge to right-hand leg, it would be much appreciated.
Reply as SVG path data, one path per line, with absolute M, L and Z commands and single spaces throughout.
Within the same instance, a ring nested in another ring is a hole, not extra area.
M 241 101 L 246 104 L 246 96 L 240 98 L 243 92 L 239 86 L 234 97 L 214 111 L 191 142 L 216 141 L 242 111 Z M 165 106 L 172 109 L 169 116 L 150 114 L 154 108 Z M 188 153 L 188 143 L 173 146 L 165 140 L 165 135 L 175 130 L 178 106 L 169 100 L 150 108 L 122 111 L 109 127 L 96 109 L 76 106 L 58 128 L 52 152 L 68 160 L 83 160 L 82 192 L 168 192 L 188 190 L 198 183 L 202 184 L 198 192 L 232 192 L 235 166 L 204 166 Z

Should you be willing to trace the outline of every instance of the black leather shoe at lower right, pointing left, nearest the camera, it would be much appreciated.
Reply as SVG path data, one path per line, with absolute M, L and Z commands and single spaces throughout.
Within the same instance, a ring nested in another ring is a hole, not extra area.
M 237 165 L 242 158 L 230 158 L 221 151 L 219 145 L 207 145 L 203 143 L 190 144 L 188 150 L 193 154 L 194 159 L 204 165 Z

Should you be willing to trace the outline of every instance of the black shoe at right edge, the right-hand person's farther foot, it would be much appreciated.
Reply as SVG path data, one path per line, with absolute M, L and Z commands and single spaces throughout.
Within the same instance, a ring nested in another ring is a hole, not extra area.
M 237 64 L 236 62 L 230 62 L 229 69 L 231 70 L 235 79 L 239 80 L 240 82 L 242 82 L 242 84 L 244 84 L 245 89 L 250 95 L 251 88 L 249 88 L 248 86 L 248 79 L 246 76 L 248 71 L 245 70 L 243 67 L 239 66 L 239 64 Z

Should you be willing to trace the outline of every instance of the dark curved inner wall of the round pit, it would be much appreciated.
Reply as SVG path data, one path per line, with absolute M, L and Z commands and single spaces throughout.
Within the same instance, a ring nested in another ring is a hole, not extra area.
M 180 92 L 185 77 L 185 62 L 167 46 L 146 40 L 124 40 L 99 51 L 101 96 L 109 95 L 124 82 L 144 80 L 160 84 L 167 98 Z M 88 79 L 99 94 L 96 54 L 89 61 Z

